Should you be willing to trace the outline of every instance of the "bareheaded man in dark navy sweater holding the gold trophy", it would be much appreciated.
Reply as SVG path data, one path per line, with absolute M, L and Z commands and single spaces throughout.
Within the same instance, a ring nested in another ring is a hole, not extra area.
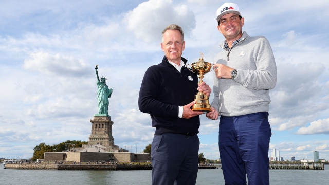
M 145 72 L 138 106 L 148 113 L 155 127 L 151 146 L 152 184 L 195 184 L 198 169 L 200 126 L 199 115 L 192 111 L 194 95 L 203 91 L 208 96 L 210 87 L 198 84 L 197 75 L 184 65 L 181 57 L 185 48 L 184 33 L 178 25 L 162 31 L 162 62 Z

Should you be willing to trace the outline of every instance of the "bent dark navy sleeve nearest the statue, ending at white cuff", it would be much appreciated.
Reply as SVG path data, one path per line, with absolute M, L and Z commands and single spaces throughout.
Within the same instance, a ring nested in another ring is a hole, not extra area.
M 160 78 L 150 67 L 144 75 L 138 98 L 139 110 L 159 117 L 178 117 L 178 105 L 163 103 L 157 99 Z

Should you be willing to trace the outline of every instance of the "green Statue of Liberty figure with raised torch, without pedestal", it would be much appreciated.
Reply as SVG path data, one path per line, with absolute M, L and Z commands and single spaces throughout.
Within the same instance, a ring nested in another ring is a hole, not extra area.
M 112 95 L 112 88 L 108 89 L 108 86 L 106 85 L 106 79 L 105 77 L 102 77 L 101 80 L 99 80 L 98 77 L 98 67 L 96 65 L 96 76 L 97 76 L 97 98 L 98 98 L 98 114 L 95 114 L 95 116 L 108 116 L 108 99 L 111 98 Z

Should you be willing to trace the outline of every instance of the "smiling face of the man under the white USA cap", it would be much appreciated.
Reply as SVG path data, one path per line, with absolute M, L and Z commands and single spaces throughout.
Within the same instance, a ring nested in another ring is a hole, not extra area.
M 226 40 L 235 41 L 242 36 L 242 27 L 244 24 L 244 18 L 239 17 L 235 13 L 228 13 L 223 15 L 219 21 L 220 25 L 217 26 Z

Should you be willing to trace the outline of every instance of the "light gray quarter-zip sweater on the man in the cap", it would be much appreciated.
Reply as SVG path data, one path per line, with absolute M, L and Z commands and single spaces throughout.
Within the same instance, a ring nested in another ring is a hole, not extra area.
M 211 106 L 223 116 L 268 112 L 271 101 L 268 93 L 276 85 L 277 67 L 266 38 L 250 37 L 243 32 L 230 52 L 223 50 L 216 55 L 215 63 L 236 69 L 237 75 L 234 80 L 214 76 Z

